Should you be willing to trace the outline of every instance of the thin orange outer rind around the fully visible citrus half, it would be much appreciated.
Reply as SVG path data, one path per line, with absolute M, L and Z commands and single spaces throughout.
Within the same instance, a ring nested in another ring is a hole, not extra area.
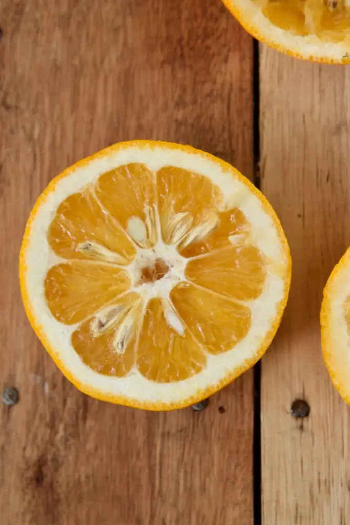
M 40 214 L 40 210 L 43 204 L 47 203 L 48 199 L 51 198 L 52 193 L 57 188 L 57 185 L 64 178 L 80 170 L 82 167 L 88 166 L 91 162 L 95 162 L 99 159 L 108 158 L 108 156 L 113 155 L 116 152 L 123 152 L 130 148 L 137 148 L 138 150 L 153 150 L 153 149 L 163 148 L 163 149 L 166 149 L 167 151 L 174 150 L 175 152 L 185 152 L 186 154 L 190 154 L 190 155 L 192 154 L 198 155 L 198 158 L 207 159 L 209 161 L 215 162 L 215 164 L 220 166 L 222 172 L 230 173 L 230 174 L 234 173 L 235 178 L 237 178 L 237 180 L 239 180 L 246 187 L 248 187 L 250 193 L 255 195 L 258 198 L 263 211 L 266 212 L 266 214 L 272 219 L 274 228 L 276 230 L 276 233 L 279 239 L 281 252 L 285 259 L 285 273 L 284 273 L 284 280 L 283 280 L 283 290 L 281 291 L 282 299 L 277 304 L 277 308 L 274 313 L 274 322 L 272 323 L 270 330 L 265 334 L 263 340 L 260 342 L 259 350 L 253 356 L 253 358 L 245 360 L 243 363 L 240 364 L 240 366 L 236 366 L 233 372 L 227 373 L 224 379 L 218 380 L 214 385 L 211 385 L 205 388 L 199 388 L 195 390 L 192 393 L 192 395 L 185 396 L 185 398 L 181 400 L 177 400 L 176 402 L 168 402 L 168 401 L 163 402 L 162 400 L 159 400 L 159 399 L 155 401 L 148 401 L 148 400 L 140 401 L 139 399 L 133 397 L 132 395 L 128 396 L 128 395 L 120 395 L 120 394 L 103 392 L 99 388 L 92 387 L 89 383 L 79 380 L 78 377 L 66 365 L 66 363 L 63 362 L 63 360 L 60 358 L 59 353 L 54 349 L 54 345 L 52 345 L 51 341 L 49 341 L 49 338 L 43 328 L 43 325 L 40 324 L 40 322 L 38 321 L 38 319 L 36 318 L 34 314 L 33 304 L 30 299 L 30 294 L 28 292 L 28 282 L 27 282 L 26 277 L 27 277 L 27 269 L 28 269 L 27 268 L 27 253 L 28 253 L 28 246 L 30 243 L 30 234 L 31 234 L 32 228 L 35 227 L 35 221 L 38 215 Z M 243 175 L 241 175 L 231 165 L 227 164 L 224 161 L 221 161 L 220 159 L 216 158 L 213 155 L 210 155 L 209 153 L 195 150 L 191 146 L 182 146 L 182 145 L 166 143 L 166 142 L 155 142 L 154 143 L 154 142 L 149 142 L 149 141 L 131 141 L 131 142 L 123 142 L 123 143 L 115 144 L 105 150 L 102 150 L 96 153 L 95 155 L 90 156 L 87 159 L 79 161 L 75 165 L 63 171 L 63 173 L 58 175 L 54 180 L 50 182 L 46 190 L 38 198 L 29 216 L 29 219 L 26 225 L 26 229 L 25 229 L 22 247 L 20 249 L 19 269 L 20 269 L 19 271 L 20 288 L 22 292 L 24 307 L 25 307 L 29 322 L 34 328 L 38 338 L 40 339 L 40 341 L 43 343 L 46 350 L 50 354 L 51 358 L 55 361 L 55 363 L 57 364 L 59 369 L 62 371 L 62 373 L 67 377 L 67 379 L 71 381 L 73 384 L 75 384 L 75 386 L 79 388 L 79 390 L 81 390 L 82 392 L 92 397 L 96 397 L 100 400 L 109 401 L 111 403 L 116 403 L 116 404 L 121 404 L 121 405 L 128 405 L 128 406 L 132 406 L 136 408 L 149 409 L 153 411 L 161 411 L 164 409 L 169 410 L 169 409 L 182 408 L 185 406 L 189 406 L 195 402 L 200 401 L 201 399 L 208 397 L 209 395 L 214 394 L 215 392 L 220 390 L 220 388 L 226 386 L 231 381 L 236 379 L 236 377 L 238 377 L 243 372 L 248 370 L 251 366 L 253 366 L 261 358 L 263 353 L 269 347 L 275 335 L 275 332 L 278 329 L 278 326 L 280 324 L 280 320 L 282 317 L 282 313 L 285 308 L 285 304 L 287 303 L 288 292 L 289 292 L 289 287 L 290 287 L 290 276 L 291 276 L 291 258 L 290 258 L 287 239 L 285 239 L 283 229 L 271 205 L 268 203 L 267 199 L 259 192 L 259 190 L 257 190 L 257 188 L 254 187 L 252 183 L 250 183 L 245 177 L 243 177 Z

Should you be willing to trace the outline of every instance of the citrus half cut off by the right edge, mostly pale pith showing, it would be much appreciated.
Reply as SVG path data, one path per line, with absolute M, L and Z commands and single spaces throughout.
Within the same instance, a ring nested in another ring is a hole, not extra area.
M 350 248 L 334 267 L 323 291 L 321 339 L 332 382 L 350 404 Z

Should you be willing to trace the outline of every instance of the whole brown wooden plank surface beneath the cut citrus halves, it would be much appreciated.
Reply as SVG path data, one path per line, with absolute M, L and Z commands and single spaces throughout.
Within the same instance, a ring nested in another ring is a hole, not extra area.
M 0 525 L 348 525 L 350 418 L 319 310 L 350 245 L 350 69 L 259 48 L 219 0 L 1 0 L 0 28 L 0 388 L 20 395 L 0 406 Z M 234 164 L 290 241 L 271 349 L 201 413 L 81 394 L 20 300 L 39 193 L 83 156 L 143 138 Z

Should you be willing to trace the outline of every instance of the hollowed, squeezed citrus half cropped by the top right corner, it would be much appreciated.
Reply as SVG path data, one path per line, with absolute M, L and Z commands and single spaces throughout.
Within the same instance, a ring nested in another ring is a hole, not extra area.
M 350 62 L 350 0 L 222 0 L 263 43 L 296 58 Z

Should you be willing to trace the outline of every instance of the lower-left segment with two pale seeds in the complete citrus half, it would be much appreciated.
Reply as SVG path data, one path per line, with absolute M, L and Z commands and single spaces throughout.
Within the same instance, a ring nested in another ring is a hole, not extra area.
M 92 370 L 123 377 L 135 364 L 135 343 L 141 321 L 140 296 L 126 293 L 73 332 L 72 345 Z M 122 339 L 124 345 L 118 346 Z

